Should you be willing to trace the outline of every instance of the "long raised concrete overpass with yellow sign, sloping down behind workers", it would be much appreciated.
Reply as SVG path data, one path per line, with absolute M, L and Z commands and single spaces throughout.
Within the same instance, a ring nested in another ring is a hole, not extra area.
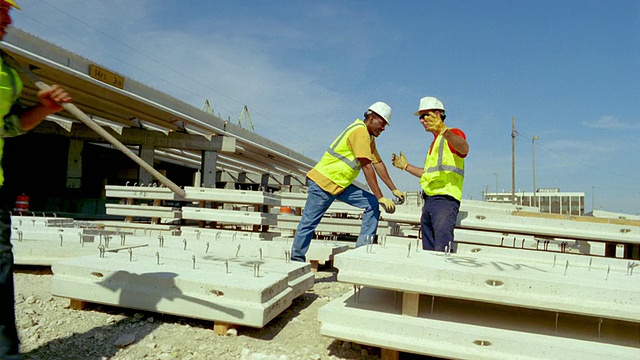
M 272 187 L 273 190 L 306 185 L 305 174 L 315 164 L 315 160 L 281 144 L 20 29 L 12 29 L 2 49 L 45 83 L 64 86 L 79 109 L 137 152 L 146 163 L 173 164 L 193 175 L 199 171 L 200 175 L 195 176 L 199 179 L 196 185 L 232 187 L 230 184 L 244 183 L 256 189 Z M 21 77 L 24 103 L 34 104 L 37 88 L 28 76 Z M 110 145 L 66 111 L 47 120 L 50 121 L 32 132 L 67 139 L 66 190 L 81 189 L 87 169 L 83 169 L 82 161 L 74 159 L 81 158 L 86 144 L 107 148 Z M 11 152 L 7 154 L 11 156 Z M 137 179 L 129 175 L 120 182 L 126 179 L 149 184 L 153 181 L 142 168 L 136 175 Z M 179 177 L 171 171 L 166 176 L 179 186 L 194 185 L 176 180 Z

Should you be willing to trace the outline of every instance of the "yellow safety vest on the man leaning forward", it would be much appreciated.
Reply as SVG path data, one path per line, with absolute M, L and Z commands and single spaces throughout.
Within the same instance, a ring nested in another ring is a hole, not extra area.
M 356 159 L 353 150 L 347 145 L 347 138 L 349 134 L 361 126 L 366 127 L 364 121 L 360 119 L 349 125 L 331 143 L 320 162 L 314 167 L 319 173 L 343 188 L 351 185 L 360 174 L 360 161 Z

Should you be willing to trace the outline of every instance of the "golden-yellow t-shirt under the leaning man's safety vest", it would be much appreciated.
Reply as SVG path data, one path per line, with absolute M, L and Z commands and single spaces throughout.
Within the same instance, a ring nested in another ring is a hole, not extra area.
M 378 154 L 375 139 L 375 137 L 369 135 L 366 127 L 359 127 L 349 134 L 347 144 L 356 158 L 366 158 L 371 160 L 372 163 L 379 163 L 382 159 Z M 342 186 L 329 180 L 315 168 L 307 173 L 307 177 L 330 194 L 337 195 L 344 191 Z

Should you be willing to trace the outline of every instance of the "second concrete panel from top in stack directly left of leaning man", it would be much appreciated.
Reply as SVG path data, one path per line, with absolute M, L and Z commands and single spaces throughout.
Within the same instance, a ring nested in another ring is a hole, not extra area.
M 183 207 L 182 218 L 238 225 L 276 225 L 277 215 L 263 212 Z

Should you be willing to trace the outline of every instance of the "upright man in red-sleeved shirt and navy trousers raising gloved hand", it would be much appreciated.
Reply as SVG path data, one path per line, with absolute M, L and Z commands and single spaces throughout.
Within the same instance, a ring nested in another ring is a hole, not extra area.
M 420 178 L 424 206 L 422 207 L 422 248 L 434 251 L 454 251 L 453 229 L 456 225 L 462 185 L 464 183 L 464 159 L 469 153 L 467 137 L 460 129 L 448 128 L 444 104 L 435 97 L 420 99 L 414 113 L 433 141 L 423 167 L 407 162 L 404 154 L 392 154 L 391 162 L 401 170 Z

